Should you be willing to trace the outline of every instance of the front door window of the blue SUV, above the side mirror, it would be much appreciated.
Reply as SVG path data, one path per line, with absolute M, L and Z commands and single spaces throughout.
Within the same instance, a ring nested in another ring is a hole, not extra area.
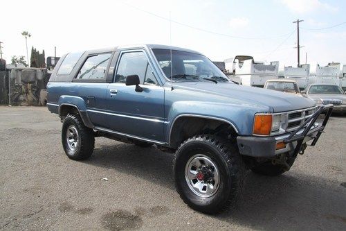
M 147 63 L 147 57 L 141 51 L 123 53 L 116 72 L 116 83 L 126 83 L 126 77 L 131 75 L 138 75 L 140 83 L 143 83 Z

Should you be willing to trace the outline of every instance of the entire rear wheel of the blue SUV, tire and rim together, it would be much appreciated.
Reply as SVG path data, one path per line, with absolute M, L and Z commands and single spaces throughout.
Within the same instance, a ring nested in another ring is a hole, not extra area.
M 93 130 L 84 126 L 78 114 L 68 114 L 62 123 L 62 146 L 72 160 L 84 160 L 93 154 Z

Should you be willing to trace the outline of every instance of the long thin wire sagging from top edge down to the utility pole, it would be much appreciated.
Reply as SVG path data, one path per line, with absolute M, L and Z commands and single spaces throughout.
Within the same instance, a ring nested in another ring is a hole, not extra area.
M 174 24 L 178 24 L 180 26 L 185 26 L 185 27 L 188 27 L 188 28 L 192 28 L 194 30 L 197 30 L 197 31 L 202 31 L 202 32 L 205 32 L 205 33 L 210 33 L 210 34 L 213 34 L 213 35 L 220 35 L 220 36 L 224 36 L 224 37 L 231 37 L 231 38 L 236 38 L 236 39 L 243 39 L 243 40 L 268 40 L 268 39 L 273 39 L 273 38 L 279 38 L 279 37 L 284 37 L 286 35 L 290 35 L 291 33 L 286 33 L 284 35 L 277 35 L 277 36 L 273 36 L 273 37 L 243 37 L 243 36 L 236 36 L 236 35 L 228 35 L 228 34 L 224 34 L 224 33 L 217 33 L 215 31 L 208 31 L 206 29 L 203 29 L 203 28 L 198 28 L 198 27 L 195 27 L 195 26 L 191 26 L 191 25 L 188 25 L 188 24 L 183 24 L 181 22 L 178 22 L 178 21 L 174 21 L 174 20 L 170 20 L 166 17 L 162 17 L 161 15 L 156 15 L 155 13 L 153 12 L 149 12 L 147 10 L 143 10 L 143 9 L 140 9 L 136 6 L 132 6 L 130 5 L 129 3 L 125 3 L 125 2 L 122 2 L 122 4 L 126 5 L 126 6 L 129 6 L 131 8 L 134 8 L 136 10 L 139 10 L 139 11 L 142 11 L 142 12 L 145 12 L 149 15 L 153 15 L 155 17 L 158 17 L 160 19 L 163 19 L 165 21 L 168 21 L 168 22 L 172 22 Z

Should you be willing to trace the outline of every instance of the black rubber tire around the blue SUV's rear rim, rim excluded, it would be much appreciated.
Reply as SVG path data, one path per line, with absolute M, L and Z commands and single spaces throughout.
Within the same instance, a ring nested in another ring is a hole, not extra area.
M 78 146 L 75 151 L 69 148 L 66 140 L 66 132 L 70 126 L 74 126 L 78 131 Z M 68 114 L 62 123 L 62 146 L 66 155 L 72 160 L 85 160 L 93 154 L 94 145 L 93 130 L 84 126 L 80 115 Z

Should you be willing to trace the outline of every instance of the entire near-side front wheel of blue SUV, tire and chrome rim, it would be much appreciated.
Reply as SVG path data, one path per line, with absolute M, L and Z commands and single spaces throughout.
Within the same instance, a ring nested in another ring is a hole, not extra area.
M 192 209 L 214 214 L 235 205 L 244 183 L 237 146 L 214 135 L 187 139 L 174 158 L 176 191 Z

